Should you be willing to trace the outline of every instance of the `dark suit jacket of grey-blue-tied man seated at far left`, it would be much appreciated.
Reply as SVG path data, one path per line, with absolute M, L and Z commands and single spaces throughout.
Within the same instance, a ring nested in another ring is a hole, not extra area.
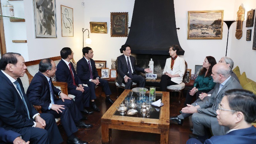
M 27 103 L 30 119 L 28 119 L 28 113 L 20 98 L 20 94 L 9 78 L 0 70 L 0 126 L 6 130 L 32 127 L 34 125 L 34 119 L 32 117 L 38 113 L 28 100 L 20 78 L 17 80 L 20 84 L 23 97 Z

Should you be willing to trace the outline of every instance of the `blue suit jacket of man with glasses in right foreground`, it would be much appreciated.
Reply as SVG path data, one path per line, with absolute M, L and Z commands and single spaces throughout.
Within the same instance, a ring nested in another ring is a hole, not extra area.
M 205 144 L 253 144 L 256 143 L 256 128 L 254 126 L 229 132 L 226 135 L 213 136 L 205 140 Z

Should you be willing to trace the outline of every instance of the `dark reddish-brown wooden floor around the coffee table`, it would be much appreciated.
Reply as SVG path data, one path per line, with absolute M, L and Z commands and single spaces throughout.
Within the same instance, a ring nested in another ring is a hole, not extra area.
M 112 95 L 111 99 L 116 100 L 117 92 L 116 86 L 109 84 Z M 120 90 L 119 93 L 122 91 Z M 177 92 L 176 92 L 177 93 Z M 175 92 L 171 93 L 170 96 L 170 116 L 179 115 L 179 111 L 183 108 L 183 103 L 185 99 L 181 100 L 181 104 L 178 103 L 177 94 Z M 184 92 L 185 96 L 185 92 Z M 88 141 L 89 144 L 100 144 L 101 143 L 101 125 L 100 118 L 111 106 L 108 103 L 105 103 L 105 94 L 102 92 L 102 96 L 97 96 L 96 104 L 100 108 L 100 112 L 94 112 L 92 115 L 85 115 L 88 117 L 85 120 L 85 123 L 93 124 L 92 128 L 89 129 L 79 129 L 75 135 L 84 141 Z M 191 117 L 185 119 L 183 125 L 178 125 L 170 122 L 169 129 L 169 144 L 185 144 L 188 140 L 189 134 L 192 134 L 189 131 L 189 128 L 192 127 Z M 60 133 L 64 142 L 67 143 L 67 136 L 62 128 L 59 126 Z M 160 144 L 160 134 L 154 133 L 145 133 L 145 132 L 131 132 L 131 131 L 122 131 L 122 130 L 112 130 L 112 140 L 110 144 Z

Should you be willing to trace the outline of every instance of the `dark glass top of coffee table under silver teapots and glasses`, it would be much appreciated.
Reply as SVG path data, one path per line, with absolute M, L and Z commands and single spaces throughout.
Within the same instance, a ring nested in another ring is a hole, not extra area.
M 156 100 L 162 99 L 162 93 L 157 93 L 156 92 Z M 135 115 L 128 115 L 127 112 L 129 110 L 129 105 L 130 105 L 130 101 L 127 102 L 129 100 L 129 98 L 131 99 L 131 97 L 134 97 L 133 99 L 135 99 L 135 104 L 137 106 L 136 110 L 138 111 L 137 114 Z M 148 98 L 149 98 L 149 93 L 146 93 L 145 96 L 140 96 L 138 94 L 136 94 L 135 92 L 129 92 L 129 94 L 125 97 L 125 99 L 123 100 L 123 104 L 126 106 L 127 110 L 125 111 L 125 113 L 120 113 L 119 111 L 117 111 L 114 113 L 114 116 L 129 116 L 129 117 L 141 117 L 141 118 L 151 118 L 151 119 L 159 119 L 160 116 L 160 110 L 161 107 L 156 107 L 153 106 L 149 103 L 151 103 L 151 101 L 148 102 Z M 146 104 L 146 106 L 148 107 L 148 112 L 147 114 L 143 115 L 141 114 L 141 105 L 144 102 L 144 104 Z M 154 101 L 153 101 L 154 102 Z

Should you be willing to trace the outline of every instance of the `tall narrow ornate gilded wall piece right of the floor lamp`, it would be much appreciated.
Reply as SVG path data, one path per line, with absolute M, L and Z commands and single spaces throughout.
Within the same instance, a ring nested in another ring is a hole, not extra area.
M 243 36 L 243 21 L 244 21 L 244 8 L 240 5 L 236 12 L 236 38 L 240 39 Z

